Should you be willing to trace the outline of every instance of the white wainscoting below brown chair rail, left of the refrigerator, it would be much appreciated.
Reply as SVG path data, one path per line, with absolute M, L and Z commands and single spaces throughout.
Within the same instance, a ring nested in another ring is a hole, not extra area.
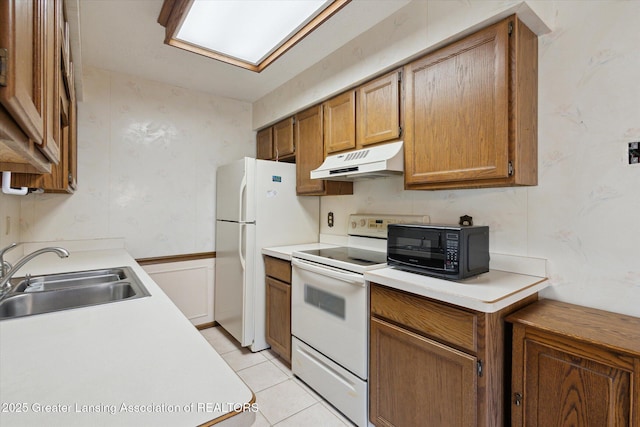
M 147 264 L 142 268 L 194 325 L 213 322 L 214 258 Z

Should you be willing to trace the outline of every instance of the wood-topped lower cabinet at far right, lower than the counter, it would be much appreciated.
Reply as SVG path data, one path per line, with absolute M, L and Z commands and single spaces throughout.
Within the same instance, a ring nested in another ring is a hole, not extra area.
M 542 300 L 507 320 L 512 426 L 640 425 L 640 318 Z

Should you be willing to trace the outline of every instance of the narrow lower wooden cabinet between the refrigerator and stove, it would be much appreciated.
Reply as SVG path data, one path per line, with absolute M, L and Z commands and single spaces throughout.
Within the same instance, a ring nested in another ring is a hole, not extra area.
M 266 339 L 271 350 L 291 363 L 291 263 L 265 256 Z

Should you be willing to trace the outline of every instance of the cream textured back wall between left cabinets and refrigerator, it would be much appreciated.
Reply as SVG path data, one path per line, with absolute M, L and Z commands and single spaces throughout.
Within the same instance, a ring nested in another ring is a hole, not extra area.
M 214 250 L 215 171 L 255 155 L 251 105 L 85 68 L 79 189 L 21 199 L 25 241 L 124 237 L 134 257 Z

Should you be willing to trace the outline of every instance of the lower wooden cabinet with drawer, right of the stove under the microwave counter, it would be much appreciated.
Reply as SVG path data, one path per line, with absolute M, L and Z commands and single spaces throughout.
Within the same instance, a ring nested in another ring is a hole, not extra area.
M 504 316 L 372 283 L 369 421 L 377 426 L 503 426 Z M 508 378 L 508 377 L 507 377 Z

